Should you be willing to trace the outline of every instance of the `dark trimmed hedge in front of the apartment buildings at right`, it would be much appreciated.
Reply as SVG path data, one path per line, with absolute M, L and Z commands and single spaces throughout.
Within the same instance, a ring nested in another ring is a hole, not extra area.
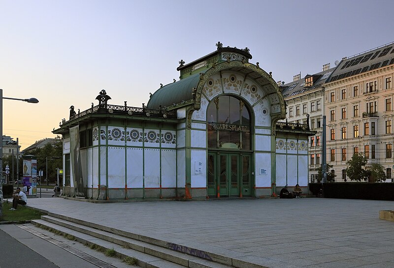
M 309 183 L 309 190 L 316 195 L 322 183 Z M 368 199 L 394 201 L 394 183 L 391 182 L 328 182 L 323 183 L 326 198 Z

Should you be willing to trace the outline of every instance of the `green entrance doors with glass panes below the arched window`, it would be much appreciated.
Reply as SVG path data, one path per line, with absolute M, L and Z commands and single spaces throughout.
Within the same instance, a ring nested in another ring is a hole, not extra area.
M 208 152 L 207 167 L 210 198 L 251 196 L 251 154 Z

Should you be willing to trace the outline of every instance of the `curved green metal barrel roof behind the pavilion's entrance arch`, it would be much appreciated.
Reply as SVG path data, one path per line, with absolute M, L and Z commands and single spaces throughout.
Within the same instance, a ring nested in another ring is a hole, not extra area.
M 146 108 L 159 109 L 193 99 L 192 90 L 200 81 L 199 73 L 191 75 L 177 82 L 165 85 L 150 97 Z

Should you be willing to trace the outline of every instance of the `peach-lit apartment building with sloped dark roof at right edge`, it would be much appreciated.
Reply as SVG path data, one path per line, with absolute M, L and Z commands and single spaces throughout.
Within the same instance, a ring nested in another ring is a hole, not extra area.
M 393 74 L 394 42 L 342 59 L 323 85 L 327 163 L 336 181 L 349 179 L 346 161 L 357 152 L 393 178 Z

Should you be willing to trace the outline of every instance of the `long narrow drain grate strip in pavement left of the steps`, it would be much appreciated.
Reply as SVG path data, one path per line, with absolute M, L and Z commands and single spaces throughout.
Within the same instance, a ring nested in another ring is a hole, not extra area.
M 66 245 L 63 242 L 61 242 L 59 240 L 56 240 L 55 238 L 50 238 L 50 237 L 48 237 L 48 236 L 46 236 L 46 235 L 44 235 L 44 234 L 32 229 L 32 228 L 30 228 L 28 225 L 16 225 L 16 226 L 18 226 L 19 228 L 21 228 L 21 229 L 33 234 L 34 236 L 37 236 L 39 238 L 47 240 L 48 242 L 50 242 L 50 243 L 52 243 L 54 245 L 57 245 L 57 246 L 63 248 L 64 250 L 68 251 L 69 253 L 71 253 L 71 254 L 73 254 L 73 255 L 75 255 L 75 256 L 77 256 L 77 257 L 79 257 L 79 258 L 81 258 L 81 259 L 83 259 L 83 260 L 85 260 L 87 262 L 90 262 L 90 263 L 92 263 L 92 264 L 94 264 L 94 265 L 96 265 L 96 266 L 98 266 L 100 268 L 116 268 L 115 266 L 107 264 L 107 263 L 104 263 L 103 261 L 101 261 L 101 260 L 99 260 L 99 259 L 97 259 L 97 258 L 95 258 L 93 256 L 90 256 L 90 255 L 88 255 L 88 254 L 86 254 L 86 253 L 84 253 L 84 252 L 82 252 L 82 251 L 80 251 L 80 250 L 78 250 L 76 248 L 70 247 L 69 245 Z

